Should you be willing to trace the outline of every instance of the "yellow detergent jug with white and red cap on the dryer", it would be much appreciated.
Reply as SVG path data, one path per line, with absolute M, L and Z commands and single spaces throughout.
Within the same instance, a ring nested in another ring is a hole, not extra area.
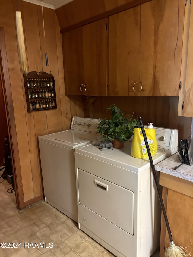
M 147 136 L 147 142 L 150 148 L 151 155 L 154 155 L 157 152 L 157 142 L 155 129 L 153 128 L 153 124 L 148 124 L 149 128 L 145 128 L 145 134 Z M 147 149 L 145 146 L 145 141 L 143 134 L 140 133 L 141 128 L 138 126 L 134 126 L 134 134 L 133 140 L 131 143 L 131 155 L 135 158 L 143 159 L 148 157 Z

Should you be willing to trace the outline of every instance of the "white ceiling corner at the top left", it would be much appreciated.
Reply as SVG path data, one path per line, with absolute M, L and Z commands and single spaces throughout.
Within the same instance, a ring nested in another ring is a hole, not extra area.
M 57 9 L 62 5 L 72 2 L 73 0 L 22 0 L 22 1 L 30 2 L 36 5 L 43 5 L 51 9 Z

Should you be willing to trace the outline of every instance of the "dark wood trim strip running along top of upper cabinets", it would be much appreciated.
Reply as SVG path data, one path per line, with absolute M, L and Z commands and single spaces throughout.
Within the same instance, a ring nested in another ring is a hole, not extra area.
M 103 13 L 101 13 L 101 14 L 97 14 L 97 15 L 95 15 L 95 16 L 93 16 L 93 17 L 90 17 L 90 18 L 88 18 L 88 19 L 82 20 L 81 22 L 78 22 L 78 23 L 76 23 L 76 24 L 72 24 L 72 25 L 70 25 L 70 26 L 68 26 L 68 27 L 62 28 L 62 29 L 60 30 L 60 33 L 65 33 L 66 31 L 73 30 L 73 29 L 75 29 L 75 28 L 84 26 L 84 25 L 89 24 L 89 23 L 91 23 L 91 22 L 94 22 L 94 21 L 96 21 L 96 20 L 103 19 L 103 18 L 108 17 L 108 16 L 110 16 L 110 15 L 119 13 L 119 12 L 121 12 L 121 11 L 125 11 L 125 10 L 127 10 L 127 9 L 129 9 L 129 8 L 135 7 L 135 6 L 137 6 L 137 5 L 144 4 L 144 3 L 149 2 L 149 1 L 150 1 L 150 0 L 135 0 L 135 1 L 132 1 L 132 2 L 131 2 L 131 0 L 127 0 L 127 4 L 125 4 L 125 5 L 121 5 L 121 6 L 119 6 L 119 7 L 116 7 L 116 8 L 114 8 L 114 9 L 112 9 L 112 10 L 103 12 Z M 72 3 L 73 3 L 73 2 L 72 2 Z M 60 19 L 62 19 L 62 16 L 61 16 L 61 15 L 62 15 L 62 14 L 64 15 L 64 13 L 65 13 L 65 9 L 64 9 L 64 8 L 65 8 L 65 6 L 63 7 L 63 11 L 61 11 L 61 10 L 57 11 L 57 10 L 56 10 L 56 15 L 57 15 L 59 21 L 60 21 Z M 102 8 L 101 8 L 101 10 L 102 10 Z M 73 13 L 72 13 L 72 12 L 71 12 L 71 16 L 73 16 Z M 68 23 L 68 22 L 67 22 L 67 23 Z

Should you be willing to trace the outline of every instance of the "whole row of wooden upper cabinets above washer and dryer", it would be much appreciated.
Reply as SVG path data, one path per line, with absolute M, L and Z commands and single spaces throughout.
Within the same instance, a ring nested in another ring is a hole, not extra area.
M 151 0 L 63 33 L 66 94 L 179 96 L 187 64 L 187 9 L 188 1 L 185 7 L 184 0 Z M 191 57 L 189 63 L 191 73 Z M 180 100 L 186 98 L 187 109 L 189 95 L 184 92 Z

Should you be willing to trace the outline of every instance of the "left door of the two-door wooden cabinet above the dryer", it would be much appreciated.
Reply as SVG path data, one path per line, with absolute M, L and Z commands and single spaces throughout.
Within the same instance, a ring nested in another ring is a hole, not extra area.
M 139 95 L 140 8 L 137 6 L 109 17 L 111 96 Z

